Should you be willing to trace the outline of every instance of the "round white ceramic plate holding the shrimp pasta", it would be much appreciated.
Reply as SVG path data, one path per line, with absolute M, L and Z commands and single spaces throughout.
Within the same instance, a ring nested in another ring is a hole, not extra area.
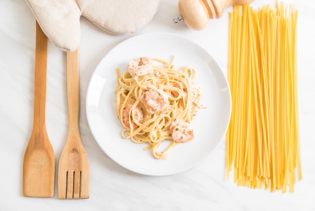
M 142 56 L 171 61 L 176 55 L 178 69 L 191 65 L 198 71 L 196 84 L 203 90 L 201 109 L 193 120 L 195 139 L 177 145 L 168 159 L 157 160 L 145 144 L 134 144 L 121 136 L 117 119 L 116 68 L 122 74 L 130 60 Z M 172 175 L 201 163 L 224 137 L 231 113 L 228 82 L 215 59 L 202 47 L 183 37 L 168 33 L 142 34 L 114 47 L 95 69 L 87 92 L 87 118 L 92 134 L 101 149 L 115 162 L 130 171 L 144 175 Z

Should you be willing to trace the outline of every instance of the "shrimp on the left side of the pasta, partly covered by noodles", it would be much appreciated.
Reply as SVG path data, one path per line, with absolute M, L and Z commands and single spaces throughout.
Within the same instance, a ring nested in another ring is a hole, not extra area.
M 122 110 L 122 116 L 123 116 L 122 121 L 124 125 L 129 129 L 131 128 L 131 126 L 133 127 L 133 129 L 137 128 L 138 125 L 135 124 L 135 122 L 142 123 L 143 121 L 143 112 L 142 112 L 141 107 L 137 105 L 136 107 L 133 108 L 133 110 L 130 113 L 132 105 L 133 104 L 129 102 L 126 104 L 126 106 Z M 133 124 L 129 122 L 129 115 L 131 117 L 131 120 L 133 121 Z

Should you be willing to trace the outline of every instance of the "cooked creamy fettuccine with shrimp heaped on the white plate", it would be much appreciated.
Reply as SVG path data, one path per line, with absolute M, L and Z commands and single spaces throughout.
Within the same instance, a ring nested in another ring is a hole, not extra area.
M 196 70 L 187 66 L 179 71 L 172 63 L 141 57 L 130 61 L 122 76 L 117 68 L 116 107 L 124 126 L 122 136 L 146 143 L 145 150 L 156 159 L 167 158 L 178 143 L 194 138 L 191 122 L 204 108 L 195 84 Z M 159 150 L 166 140 L 167 149 Z

